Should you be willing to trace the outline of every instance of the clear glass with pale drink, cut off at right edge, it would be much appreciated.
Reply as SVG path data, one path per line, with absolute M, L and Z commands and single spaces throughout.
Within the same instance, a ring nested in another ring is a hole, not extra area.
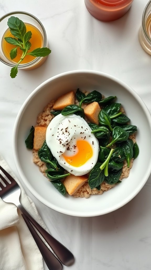
M 151 55 L 151 1 L 148 2 L 143 12 L 139 42 L 145 52 Z

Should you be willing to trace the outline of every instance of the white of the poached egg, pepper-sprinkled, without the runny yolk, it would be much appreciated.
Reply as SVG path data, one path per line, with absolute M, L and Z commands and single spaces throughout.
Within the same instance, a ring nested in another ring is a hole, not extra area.
M 46 144 L 52 155 L 60 166 L 75 176 L 89 173 L 98 160 L 99 143 L 91 131 L 88 123 L 75 114 L 67 116 L 59 114 L 51 120 L 47 127 Z M 75 147 L 77 140 L 86 140 L 93 150 L 92 157 L 80 167 L 72 166 L 63 157 L 63 154 L 73 156 L 77 153 L 78 149 Z

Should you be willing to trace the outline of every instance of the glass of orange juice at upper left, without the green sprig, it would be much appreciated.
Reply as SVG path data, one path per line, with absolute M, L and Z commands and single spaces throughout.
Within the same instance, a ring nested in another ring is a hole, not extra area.
M 29 49 L 29 52 L 37 48 L 48 47 L 49 45 L 44 26 L 32 14 L 23 11 L 14 11 L 2 16 L 0 18 L 0 61 L 8 66 L 14 67 L 21 58 L 22 50 L 20 48 L 17 48 L 16 58 L 14 58 L 13 60 L 10 58 L 10 50 L 15 48 L 15 45 L 6 42 L 4 38 L 14 38 L 14 36 L 10 33 L 9 27 L 7 25 L 8 19 L 11 16 L 17 17 L 21 21 L 23 21 L 26 25 L 27 31 L 32 32 L 32 37 L 30 39 L 31 47 Z M 38 68 L 45 62 L 46 58 L 47 56 L 35 57 L 31 55 L 26 55 L 23 61 L 21 61 L 21 63 L 19 64 L 18 68 L 26 70 Z

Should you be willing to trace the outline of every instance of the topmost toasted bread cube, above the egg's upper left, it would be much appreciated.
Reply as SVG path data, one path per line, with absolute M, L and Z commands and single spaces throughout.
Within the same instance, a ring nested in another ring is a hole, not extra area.
M 64 107 L 68 106 L 68 105 L 71 105 L 71 104 L 74 104 L 75 103 L 75 95 L 74 95 L 74 92 L 71 91 L 61 97 L 59 97 L 54 105 L 53 105 L 53 109 L 54 110 L 63 110 Z

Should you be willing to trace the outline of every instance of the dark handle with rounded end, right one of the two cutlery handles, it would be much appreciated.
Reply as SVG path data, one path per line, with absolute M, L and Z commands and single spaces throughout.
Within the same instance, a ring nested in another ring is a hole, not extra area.
M 42 228 L 37 221 L 35 221 L 31 215 L 23 208 L 19 207 L 20 210 L 26 215 L 28 220 L 34 225 L 34 227 L 37 229 L 37 231 L 42 235 L 42 237 L 45 239 L 45 241 L 49 244 L 49 246 L 52 248 L 52 250 L 55 252 L 59 260 L 64 265 L 71 265 L 74 262 L 74 256 L 73 254 L 64 247 L 59 241 L 57 241 L 52 235 L 50 235 L 44 228 Z

